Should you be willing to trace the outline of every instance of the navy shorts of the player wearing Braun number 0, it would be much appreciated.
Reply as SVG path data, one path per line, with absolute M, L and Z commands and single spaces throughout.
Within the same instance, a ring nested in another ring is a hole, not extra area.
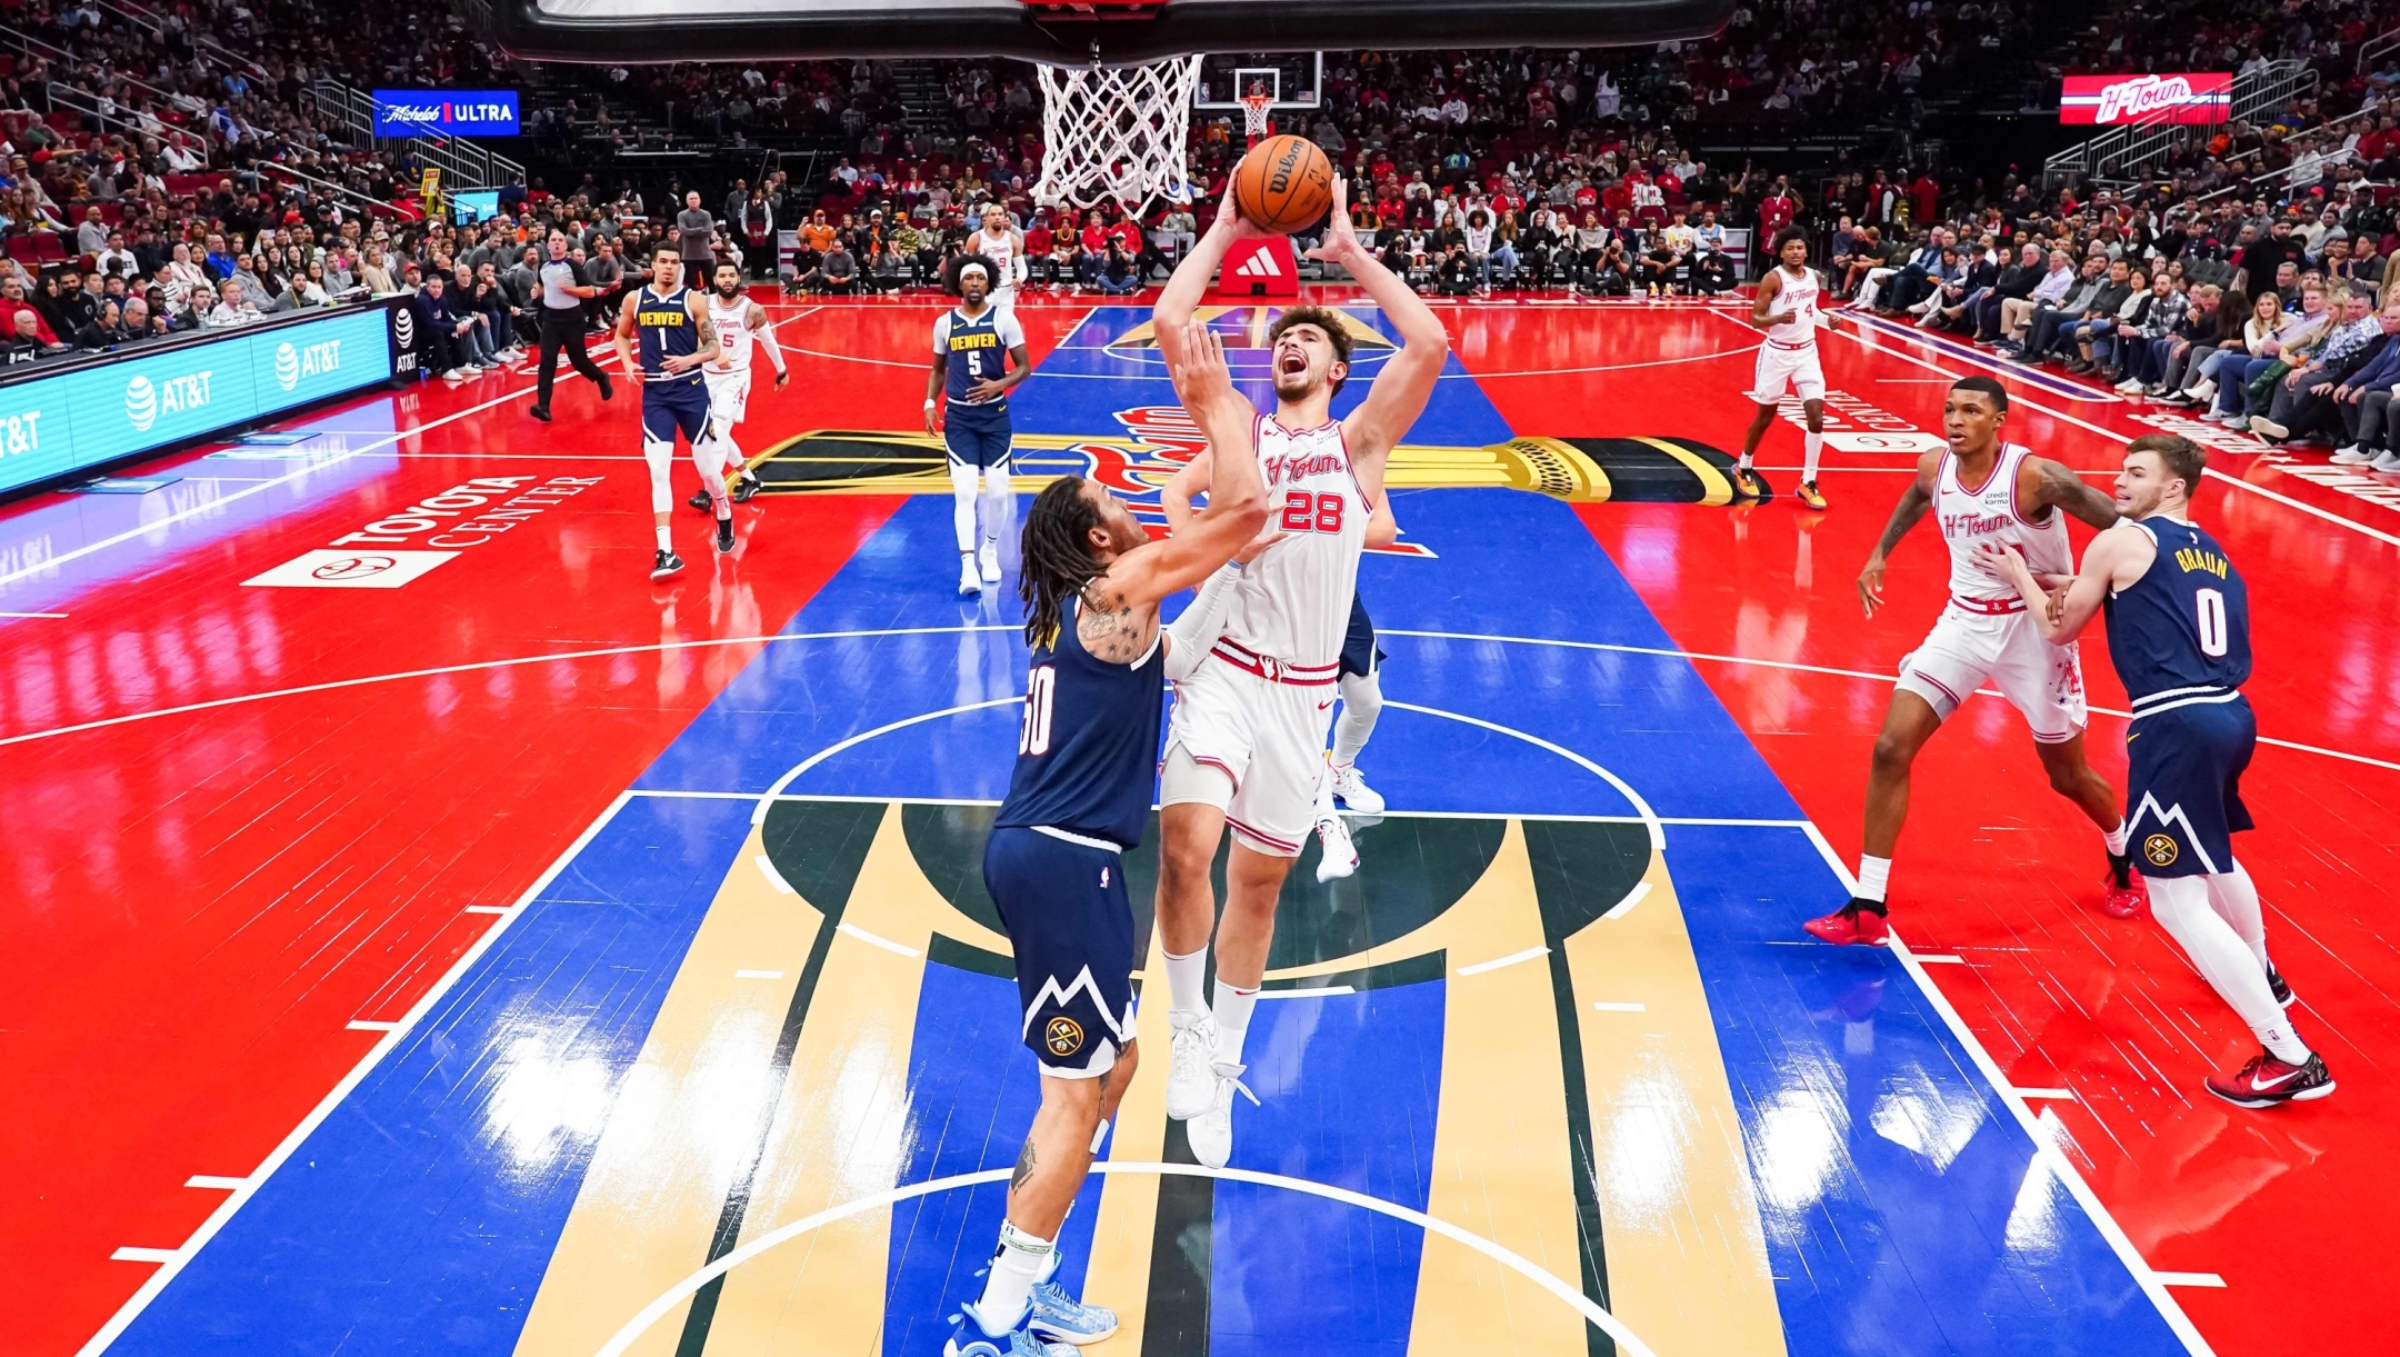
M 2232 836 L 2251 829 L 2242 769 L 2256 747 L 2258 718 L 2242 694 L 2134 718 L 2124 836 L 2143 877 L 2232 872 Z

